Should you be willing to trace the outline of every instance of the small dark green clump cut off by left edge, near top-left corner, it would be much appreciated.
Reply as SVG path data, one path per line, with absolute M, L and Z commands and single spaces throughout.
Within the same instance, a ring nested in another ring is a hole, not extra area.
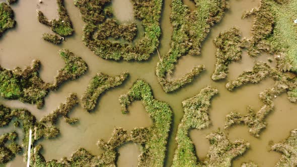
M 0 37 L 10 28 L 14 28 L 16 21 L 14 20 L 14 11 L 5 3 L 0 4 Z

